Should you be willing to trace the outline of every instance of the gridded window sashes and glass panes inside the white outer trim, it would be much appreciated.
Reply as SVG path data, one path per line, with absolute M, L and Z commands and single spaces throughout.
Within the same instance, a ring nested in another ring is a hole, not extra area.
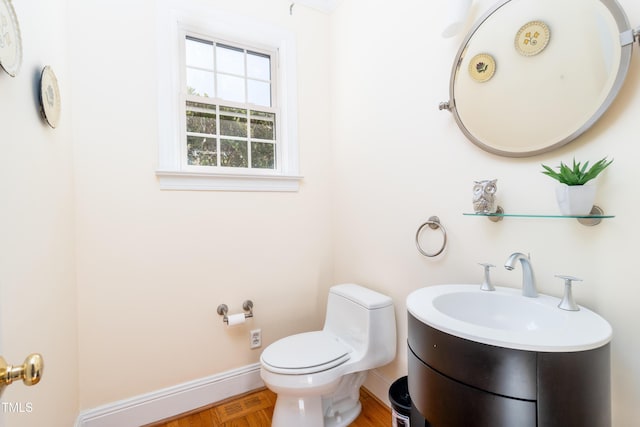
M 277 170 L 274 58 L 185 37 L 188 166 Z

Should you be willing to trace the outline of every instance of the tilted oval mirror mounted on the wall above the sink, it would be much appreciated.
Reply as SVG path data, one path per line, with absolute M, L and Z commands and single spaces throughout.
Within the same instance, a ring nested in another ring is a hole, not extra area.
M 454 61 L 449 109 L 486 151 L 526 157 L 585 132 L 627 75 L 633 31 L 615 0 L 504 0 Z

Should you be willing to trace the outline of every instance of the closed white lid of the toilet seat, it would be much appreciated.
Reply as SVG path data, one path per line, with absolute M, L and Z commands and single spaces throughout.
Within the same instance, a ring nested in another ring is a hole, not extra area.
M 305 332 L 274 342 L 262 352 L 260 360 L 275 373 L 310 374 L 346 362 L 350 350 L 327 332 Z

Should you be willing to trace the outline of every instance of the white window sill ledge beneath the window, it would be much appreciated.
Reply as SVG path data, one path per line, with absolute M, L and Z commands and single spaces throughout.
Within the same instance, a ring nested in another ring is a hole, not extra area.
M 295 192 L 301 176 L 156 171 L 161 190 Z

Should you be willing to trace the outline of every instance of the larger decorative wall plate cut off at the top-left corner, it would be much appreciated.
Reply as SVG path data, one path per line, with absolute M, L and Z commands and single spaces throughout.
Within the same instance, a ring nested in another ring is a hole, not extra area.
M 22 65 L 20 27 L 10 0 L 0 0 L 0 65 L 11 77 Z

